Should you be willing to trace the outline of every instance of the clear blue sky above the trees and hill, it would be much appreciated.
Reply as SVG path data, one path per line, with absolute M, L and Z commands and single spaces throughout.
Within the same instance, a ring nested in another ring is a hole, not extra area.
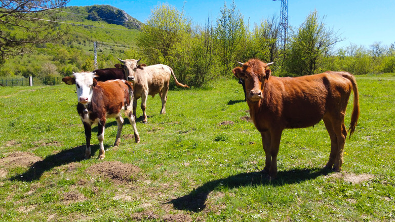
M 204 25 L 207 20 L 216 22 L 225 1 L 186 0 L 186 1 L 87 1 L 71 0 L 67 6 L 111 5 L 124 10 L 130 16 L 145 22 L 152 10 L 163 3 L 184 8 L 185 15 L 194 23 Z M 231 1 L 226 1 L 228 7 Z M 281 1 L 272 0 L 235 0 L 234 4 L 250 24 L 280 15 Z M 308 14 L 317 10 L 320 17 L 325 16 L 325 24 L 345 38 L 336 48 L 355 45 L 369 47 L 375 42 L 389 46 L 395 42 L 395 0 L 290 0 L 288 1 L 289 25 L 299 27 Z

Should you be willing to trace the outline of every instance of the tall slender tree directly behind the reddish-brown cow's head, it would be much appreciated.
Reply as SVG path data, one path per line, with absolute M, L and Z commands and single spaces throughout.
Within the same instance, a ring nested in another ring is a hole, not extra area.
M 238 46 L 246 37 L 246 27 L 244 17 L 239 10 L 236 11 L 234 1 L 230 8 L 226 2 L 221 8 L 220 16 L 217 19 L 216 36 L 219 45 L 219 56 L 223 66 L 223 75 L 228 75 L 232 66 L 236 63 L 235 56 Z

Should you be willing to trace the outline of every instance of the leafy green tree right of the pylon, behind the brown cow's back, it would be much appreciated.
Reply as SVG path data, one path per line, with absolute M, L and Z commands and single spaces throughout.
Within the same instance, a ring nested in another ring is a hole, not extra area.
M 342 41 L 325 27 L 317 11 L 310 13 L 291 39 L 285 68 L 298 75 L 312 75 L 320 68 L 322 58 L 329 56 L 332 46 Z

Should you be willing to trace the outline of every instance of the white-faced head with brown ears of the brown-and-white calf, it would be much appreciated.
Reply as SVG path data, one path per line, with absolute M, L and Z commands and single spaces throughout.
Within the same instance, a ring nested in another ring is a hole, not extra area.
M 71 77 L 62 79 L 67 85 L 76 85 L 78 102 L 87 104 L 92 99 L 93 88 L 97 85 L 94 72 L 75 73 Z

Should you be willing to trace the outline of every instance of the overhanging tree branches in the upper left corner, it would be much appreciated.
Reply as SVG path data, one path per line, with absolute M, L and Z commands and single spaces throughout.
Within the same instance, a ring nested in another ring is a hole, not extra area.
M 49 9 L 65 6 L 69 0 L 14 0 L 0 2 L 0 64 L 9 56 L 20 55 L 29 46 L 51 42 L 64 35 Z

